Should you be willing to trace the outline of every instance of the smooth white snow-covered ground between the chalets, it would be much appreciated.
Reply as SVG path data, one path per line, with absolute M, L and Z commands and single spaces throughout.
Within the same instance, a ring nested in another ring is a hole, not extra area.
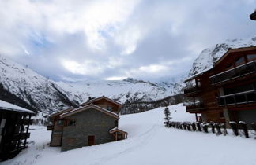
M 182 104 L 172 105 L 174 121 L 193 121 L 194 115 L 186 113 Z M 2 165 L 22 164 L 256 164 L 256 140 L 254 138 L 216 136 L 166 128 L 163 125 L 164 108 L 121 116 L 120 128 L 126 130 L 128 139 L 104 145 L 95 145 L 61 152 L 51 148 L 51 131 L 46 127 L 31 130 L 34 141 L 29 148 Z

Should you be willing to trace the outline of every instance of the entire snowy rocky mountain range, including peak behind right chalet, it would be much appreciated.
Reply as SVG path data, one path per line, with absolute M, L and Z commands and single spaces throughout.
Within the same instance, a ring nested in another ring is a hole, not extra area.
M 194 61 L 190 75 L 213 67 L 229 48 L 256 46 L 256 37 L 228 40 L 204 49 Z M 0 99 L 49 114 L 77 107 L 88 97 L 105 95 L 126 105 L 122 113 L 143 112 L 183 101 L 183 79 L 177 83 L 151 83 L 137 79 L 54 82 L 29 68 L 0 56 Z

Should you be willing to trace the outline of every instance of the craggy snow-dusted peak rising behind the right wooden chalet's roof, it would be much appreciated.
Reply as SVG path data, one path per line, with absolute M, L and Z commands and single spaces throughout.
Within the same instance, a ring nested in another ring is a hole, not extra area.
M 227 42 L 216 44 L 216 46 L 204 49 L 200 53 L 199 57 L 194 61 L 193 67 L 190 70 L 190 75 L 195 75 L 198 72 L 212 68 L 213 64 L 218 61 L 220 57 L 228 51 L 228 49 L 248 46 L 256 46 L 256 36 L 252 38 L 227 40 Z

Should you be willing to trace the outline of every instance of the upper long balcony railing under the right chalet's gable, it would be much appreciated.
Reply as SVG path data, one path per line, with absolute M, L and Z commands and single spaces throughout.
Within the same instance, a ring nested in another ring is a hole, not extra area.
M 250 75 L 252 73 L 256 73 L 256 61 L 251 61 L 247 64 L 243 64 L 236 68 L 229 69 L 228 71 L 213 75 L 209 79 L 213 85 L 216 85 L 219 83 L 228 82 L 232 79 L 243 77 L 245 75 Z

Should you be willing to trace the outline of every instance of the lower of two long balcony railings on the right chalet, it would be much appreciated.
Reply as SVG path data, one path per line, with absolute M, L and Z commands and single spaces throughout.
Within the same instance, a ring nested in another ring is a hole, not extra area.
M 256 90 L 217 97 L 220 106 L 241 105 L 256 102 Z

